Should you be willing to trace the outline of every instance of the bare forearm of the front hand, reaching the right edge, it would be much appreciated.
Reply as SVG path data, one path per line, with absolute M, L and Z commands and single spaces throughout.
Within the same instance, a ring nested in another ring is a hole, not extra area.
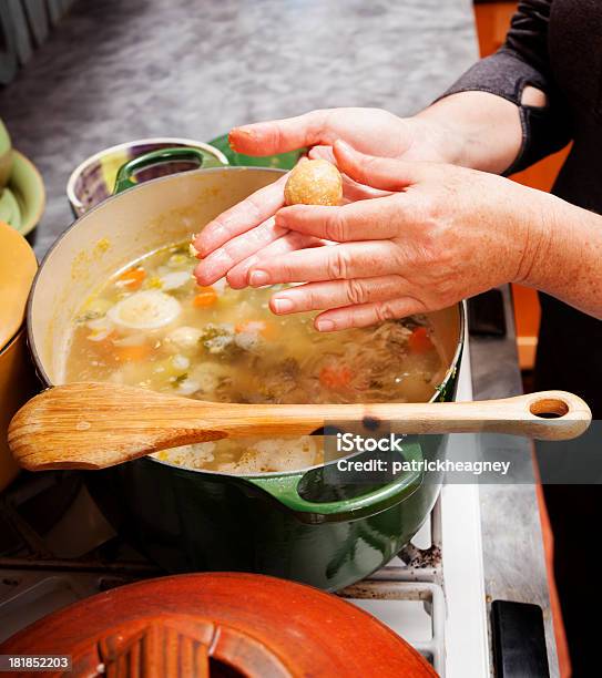
M 602 216 L 537 193 L 517 281 L 602 319 Z

